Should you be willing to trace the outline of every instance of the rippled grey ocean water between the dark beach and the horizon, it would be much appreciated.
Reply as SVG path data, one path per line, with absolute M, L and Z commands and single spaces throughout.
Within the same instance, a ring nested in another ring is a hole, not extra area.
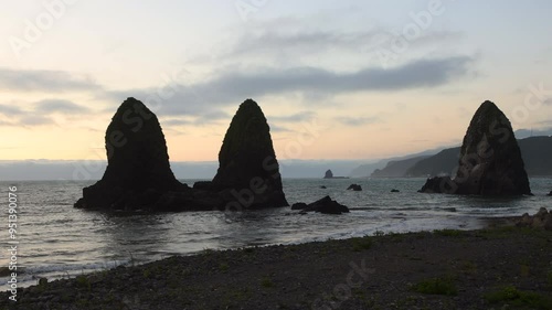
M 192 184 L 198 180 L 181 180 Z M 439 228 L 474 229 L 486 217 L 550 207 L 552 179 L 531 179 L 534 196 L 480 197 L 422 194 L 425 179 L 284 179 L 290 204 L 330 195 L 351 209 L 342 215 L 299 215 L 290 207 L 243 213 L 188 212 L 117 215 L 73 207 L 93 182 L 0 182 L 0 264 L 8 266 L 9 186 L 17 186 L 18 286 L 74 277 L 118 265 L 136 265 L 204 249 L 229 249 Z M 347 191 L 351 183 L 361 192 Z M 325 185 L 327 189 L 321 189 Z M 400 190 L 391 193 L 392 189 Z M 9 278 L 0 278 L 7 290 Z

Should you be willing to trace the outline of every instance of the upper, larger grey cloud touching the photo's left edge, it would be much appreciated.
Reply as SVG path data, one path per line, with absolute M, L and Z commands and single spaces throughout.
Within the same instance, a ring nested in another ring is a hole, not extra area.
M 12 70 L 0 67 L 0 89 L 11 92 L 78 92 L 99 90 L 91 77 L 63 71 Z

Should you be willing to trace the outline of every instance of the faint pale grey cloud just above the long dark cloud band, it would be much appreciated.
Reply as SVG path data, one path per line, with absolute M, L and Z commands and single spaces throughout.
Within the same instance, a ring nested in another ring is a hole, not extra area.
M 286 18 L 256 22 L 255 28 L 235 39 L 230 51 L 219 56 L 221 61 L 236 57 L 282 57 L 301 58 L 336 52 L 365 54 L 380 49 L 390 49 L 400 38 L 389 26 L 369 26 L 358 31 L 341 29 L 312 30 L 305 20 Z M 444 42 L 458 42 L 460 32 L 426 30 L 408 42 L 411 49 L 442 47 Z

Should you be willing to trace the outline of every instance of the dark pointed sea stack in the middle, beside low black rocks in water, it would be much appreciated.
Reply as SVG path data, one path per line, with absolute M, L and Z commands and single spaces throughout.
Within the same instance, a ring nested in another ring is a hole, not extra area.
M 287 206 L 270 129 L 252 99 L 240 105 L 219 152 L 212 189 L 241 209 Z

